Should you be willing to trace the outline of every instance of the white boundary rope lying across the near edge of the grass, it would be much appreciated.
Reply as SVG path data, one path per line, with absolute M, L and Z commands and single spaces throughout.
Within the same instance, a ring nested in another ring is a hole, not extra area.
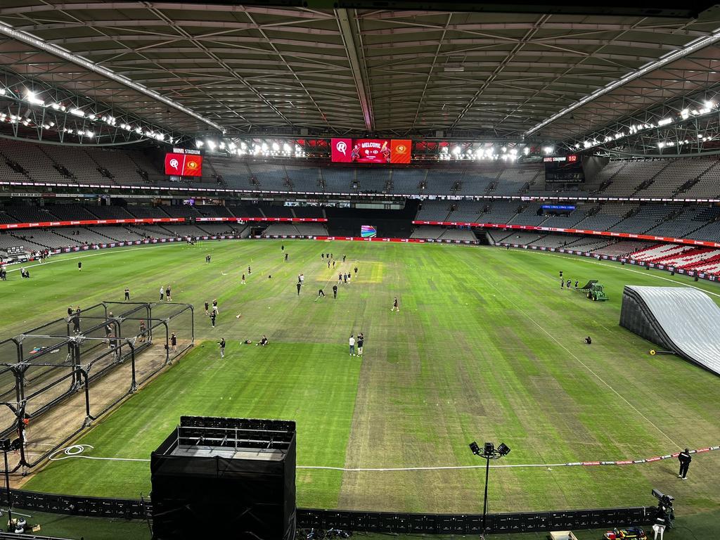
M 67 448 L 59 449 L 50 454 L 51 462 L 60 462 L 63 459 L 71 458 L 82 458 L 82 459 L 96 459 L 99 461 L 109 462 L 150 462 L 150 459 L 142 458 L 123 458 L 123 457 L 99 457 L 99 456 L 85 456 L 84 451 L 87 449 L 92 450 L 94 446 L 90 444 L 73 444 Z M 720 450 L 720 446 L 706 446 L 705 448 L 690 450 L 690 454 L 703 454 L 704 452 Z M 680 452 L 675 454 L 667 454 L 665 456 L 655 456 L 645 459 L 624 459 L 620 461 L 594 461 L 594 462 L 570 462 L 570 463 L 524 463 L 524 464 L 508 464 L 508 465 L 490 465 L 492 469 L 518 469 L 518 468 L 532 468 L 532 467 L 595 467 L 598 465 L 637 465 L 641 463 L 652 463 L 660 462 L 663 459 L 672 459 L 678 457 Z M 456 466 L 445 466 L 445 467 L 326 467 L 323 465 L 297 465 L 297 469 L 321 469 L 328 471 L 342 471 L 342 472 L 405 472 L 405 471 L 446 471 L 446 470 L 462 470 L 462 469 L 484 469 L 485 465 L 456 465 Z

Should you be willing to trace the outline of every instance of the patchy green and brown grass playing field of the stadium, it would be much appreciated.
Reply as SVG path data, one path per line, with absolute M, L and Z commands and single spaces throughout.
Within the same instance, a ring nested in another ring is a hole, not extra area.
M 58 256 L 32 279 L 0 284 L 2 337 L 65 315 L 67 305 L 157 300 L 194 304 L 196 347 L 79 439 L 88 454 L 149 457 L 182 414 L 297 421 L 298 465 L 346 468 L 482 465 L 470 441 L 505 442 L 498 464 L 637 459 L 720 442 L 720 384 L 618 326 L 625 284 L 720 287 L 660 271 L 475 246 L 286 240 L 156 246 Z M 328 270 L 320 252 L 346 264 Z M 212 263 L 204 264 L 206 253 Z M 246 285 L 240 274 L 250 264 Z M 333 300 L 338 271 L 359 267 Z M 599 279 L 610 302 L 561 290 L 559 270 Z M 297 274 L 305 274 L 298 296 Z M 227 275 L 223 275 L 227 274 Z M 268 278 L 272 274 L 272 278 Z M 328 297 L 316 300 L 319 287 Z M 400 313 L 391 312 L 392 297 Z M 202 302 L 217 297 L 217 328 Z M 242 313 L 242 318 L 235 315 Z M 348 355 L 364 332 L 365 355 Z M 266 348 L 242 345 L 270 339 Z M 582 338 L 593 337 L 585 346 Z M 215 343 L 228 340 L 225 360 Z M 679 514 L 720 504 L 720 452 L 696 456 L 686 482 L 676 462 L 625 467 L 512 467 L 490 473 L 490 510 L 650 505 L 652 487 Z M 297 471 L 303 507 L 477 512 L 484 470 Z M 136 497 L 147 462 L 51 462 L 27 489 Z M 720 528 L 720 527 L 719 527 Z

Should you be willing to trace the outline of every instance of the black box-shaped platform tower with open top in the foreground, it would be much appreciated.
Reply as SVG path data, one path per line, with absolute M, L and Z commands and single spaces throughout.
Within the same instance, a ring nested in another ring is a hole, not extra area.
M 183 416 L 150 456 L 153 538 L 293 540 L 295 423 Z

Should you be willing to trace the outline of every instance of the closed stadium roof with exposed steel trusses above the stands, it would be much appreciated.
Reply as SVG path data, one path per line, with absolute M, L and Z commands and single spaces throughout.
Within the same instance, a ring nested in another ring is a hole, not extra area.
M 720 83 L 715 8 L 691 18 L 4 0 L 0 22 L 1 70 L 185 133 L 568 140 Z

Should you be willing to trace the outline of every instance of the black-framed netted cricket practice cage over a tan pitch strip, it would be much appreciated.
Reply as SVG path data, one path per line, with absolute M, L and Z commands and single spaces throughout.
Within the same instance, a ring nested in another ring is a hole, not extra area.
M 19 449 L 12 471 L 44 461 L 193 344 L 193 307 L 172 302 L 102 302 L 0 341 L 0 438 Z M 24 438 L 28 424 L 42 445 Z

